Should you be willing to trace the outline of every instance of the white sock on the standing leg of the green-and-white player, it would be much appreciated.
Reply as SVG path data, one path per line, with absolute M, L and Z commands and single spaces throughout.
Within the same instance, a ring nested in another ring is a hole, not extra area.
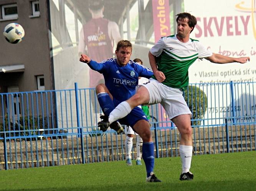
M 192 146 L 180 145 L 180 158 L 182 162 L 182 173 L 189 172 L 192 159 Z

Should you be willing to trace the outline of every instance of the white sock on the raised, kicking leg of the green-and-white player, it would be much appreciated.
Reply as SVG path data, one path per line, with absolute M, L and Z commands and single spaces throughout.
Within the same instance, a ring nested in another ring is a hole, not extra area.
M 116 108 L 109 114 L 109 124 L 116 120 L 126 117 L 131 112 L 130 105 L 128 102 L 124 101 L 117 105 Z

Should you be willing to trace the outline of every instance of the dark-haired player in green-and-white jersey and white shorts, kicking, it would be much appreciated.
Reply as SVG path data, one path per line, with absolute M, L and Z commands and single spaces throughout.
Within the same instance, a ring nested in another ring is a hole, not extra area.
M 149 52 L 149 62 L 154 77 L 142 84 L 136 94 L 121 102 L 109 115 L 109 123 L 126 116 L 132 108 L 141 104 L 160 103 L 170 120 L 177 126 L 180 139 L 182 172 L 180 180 L 193 180 L 189 171 L 192 159 L 191 112 L 182 96 L 182 89 L 188 85 L 188 68 L 197 58 L 205 58 L 213 63 L 246 63 L 249 57 L 231 58 L 211 53 L 197 40 L 190 39 L 190 33 L 197 24 L 195 16 L 179 13 L 177 34 L 162 37 Z

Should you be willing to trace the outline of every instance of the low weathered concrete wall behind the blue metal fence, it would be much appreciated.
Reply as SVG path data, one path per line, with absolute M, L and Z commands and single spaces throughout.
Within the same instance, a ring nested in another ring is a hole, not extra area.
M 208 128 L 193 128 L 193 131 L 195 131 L 195 134 L 193 134 L 194 155 L 227 152 L 225 127 L 216 126 L 214 129 L 210 128 L 209 132 Z M 180 142 L 178 130 L 166 129 L 158 130 L 157 132 L 159 157 L 178 156 Z M 230 126 L 230 152 L 254 151 L 254 136 L 255 129 L 253 125 Z M 233 139 L 231 139 L 231 137 Z M 125 160 L 125 138 L 125 134 L 116 136 L 115 133 L 103 133 L 102 137 L 100 134 L 98 134 L 97 137 L 84 135 L 85 162 Z M 153 132 L 152 138 L 155 143 L 155 134 Z M 5 168 L 2 141 L 0 141 L 0 170 Z M 133 139 L 132 159 L 136 158 L 135 143 L 136 138 Z M 56 139 L 56 136 L 49 136 L 48 138 L 37 139 L 37 141 L 30 141 L 30 138 L 26 141 L 22 139 L 8 139 L 6 149 L 8 169 L 82 163 L 81 140 L 75 136 L 72 136 L 71 139 L 70 135 L 58 136 L 58 139 Z M 15 151 L 17 153 L 15 153 Z M 10 160 L 10 157 L 12 157 L 12 160 Z

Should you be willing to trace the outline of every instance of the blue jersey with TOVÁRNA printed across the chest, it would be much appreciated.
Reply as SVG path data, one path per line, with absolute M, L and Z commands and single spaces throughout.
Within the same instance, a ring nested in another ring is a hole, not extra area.
M 114 105 L 129 99 L 135 94 L 138 77 L 150 78 L 151 69 L 129 60 L 126 66 L 119 66 L 116 59 L 105 60 L 101 63 L 92 61 L 88 63 L 92 70 L 102 73 L 105 85 L 113 96 Z

